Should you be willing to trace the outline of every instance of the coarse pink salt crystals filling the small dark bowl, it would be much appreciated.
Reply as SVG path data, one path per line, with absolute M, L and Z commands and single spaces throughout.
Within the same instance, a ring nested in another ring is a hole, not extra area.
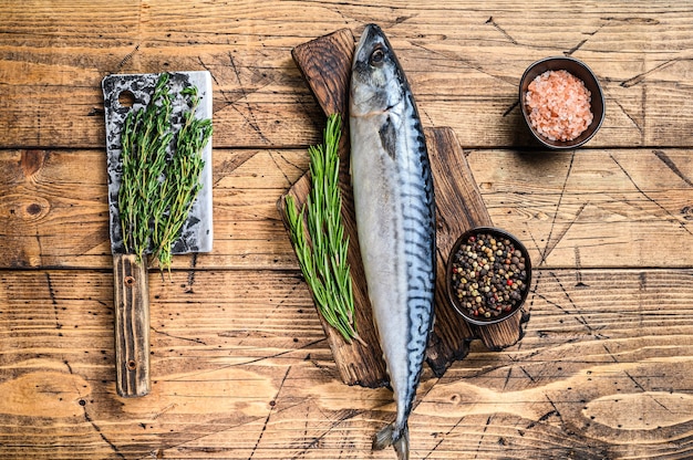
M 529 84 L 525 103 L 531 126 L 549 140 L 572 140 L 592 123 L 591 94 L 568 71 L 546 71 Z

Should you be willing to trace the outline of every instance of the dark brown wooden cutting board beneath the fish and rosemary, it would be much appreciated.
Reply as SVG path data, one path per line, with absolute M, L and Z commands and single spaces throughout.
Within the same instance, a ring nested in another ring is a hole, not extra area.
M 365 345 L 359 342 L 348 344 L 321 317 L 322 325 L 342 380 L 349 385 L 377 387 L 387 384 L 387 374 L 366 293 L 349 175 L 349 82 L 353 53 L 353 34 L 351 30 L 342 29 L 297 46 L 292 56 L 325 115 L 340 113 L 344 121 L 340 143 L 342 219 L 350 238 L 348 259 L 353 279 L 356 326 Z M 425 135 L 433 168 L 437 219 L 435 324 L 426 362 L 436 376 L 442 376 L 453 362 L 467 355 L 469 342 L 474 338 L 482 339 L 494 351 L 517 343 L 521 338 L 521 323 L 528 316 L 515 315 L 496 325 L 474 326 L 465 322 L 447 302 L 444 273 L 455 240 L 470 228 L 493 226 L 493 222 L 454 132 L 446 127 L 427 128 Z M 285 224 L 286 197 L 292 196 L 300 207 L 309 190 L 310 177 L 307 172 L 280 198 L 278 207 Z

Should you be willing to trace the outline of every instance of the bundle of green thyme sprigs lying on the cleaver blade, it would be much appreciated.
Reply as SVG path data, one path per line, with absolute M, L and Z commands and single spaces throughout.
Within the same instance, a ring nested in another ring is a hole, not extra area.
M 125 117 L 118 190 L 125 252 L 142 262 L 151 251 L 162 269 L 170 269 L 172 245 L 201 188 L 201 151 L 213 130 L 210 119 L 195 117 L 199 104 L 195 86 L 180 92 L 189 109 L 175 128 L 168 80 L 168 73 L 162 73 L 147 106 Z

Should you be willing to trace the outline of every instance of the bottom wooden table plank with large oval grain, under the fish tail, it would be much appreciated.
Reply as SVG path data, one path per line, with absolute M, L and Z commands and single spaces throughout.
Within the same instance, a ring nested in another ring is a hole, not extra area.
M 473 343 L 443 378 L 424 374 L 413 457 L 690 456 L 691 276 L 540 269 L 521 346 Z M 339 381 L 296 272 L 149 286 L 152 394 L 122 399 L 112 273 L 0 271 L 0 457 L 391 458 L 370 450 L 389 390 Z

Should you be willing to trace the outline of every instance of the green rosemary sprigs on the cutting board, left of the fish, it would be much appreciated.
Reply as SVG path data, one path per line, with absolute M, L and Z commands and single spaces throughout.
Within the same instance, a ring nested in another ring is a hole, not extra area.
M 286 199 L 290 238 L 318 311 L 344 339 L 361 342 L 354 317 L 354 299 L 346 261 L 349 236 L 341 220 L 342 196 L 339 189 L 341 118 L 328 117 L 324 144 L 311 146 L 311 190 L 299 212 L 292 197 Z M 307 234 L 308 233 L 308 234 Z

